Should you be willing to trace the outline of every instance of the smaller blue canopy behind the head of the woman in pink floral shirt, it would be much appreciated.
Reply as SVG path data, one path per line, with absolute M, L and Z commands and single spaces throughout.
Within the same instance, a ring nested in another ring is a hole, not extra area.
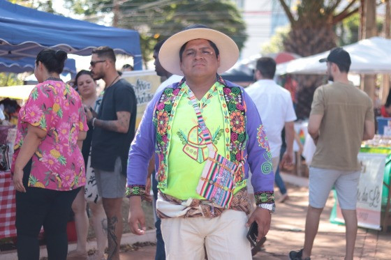
M 5 59 L 0 56 L 0 72 L 22 73 L 34 71 L 36 59 L 25 57 L 22 59 Z M 64 72 L 71 73 L 72 77 L 76 76 L 76 64 L 74 59 L 66 59 Z

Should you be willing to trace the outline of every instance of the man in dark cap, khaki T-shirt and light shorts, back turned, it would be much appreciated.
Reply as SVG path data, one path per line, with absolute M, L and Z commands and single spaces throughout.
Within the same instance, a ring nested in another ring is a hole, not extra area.
M 348 81 L 351 56 L 341 47 L 325 59 L 331 84 L 319 86 L 313 94 L 308 132 L 316 144 L 309 168 L 309 207 L 304 248 L 291 251 L 290 259 L 310 259 L 318 232 L 320 214 L 330 190 L 337 191 L 346 224 L 346 260 L 353 259 L 357 234 L 357 185 L 361 165 L 357 160 L 363 140 L 374 137 L 374 109 L 369 96 Z

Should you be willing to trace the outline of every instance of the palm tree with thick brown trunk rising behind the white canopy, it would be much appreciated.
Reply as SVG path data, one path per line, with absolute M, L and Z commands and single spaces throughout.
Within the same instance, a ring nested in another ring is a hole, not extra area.
M 290 32 L 283 39 L 287 52 L 309 56 L 336 46 L 333 27 L 346 17 L 357 13 L 360 1 L 350 0 L 341 8 L 341 0 L 301 0 L 295 14 L 285 0 L 279 0 L 290 22 Z M 337 11 L 339 10 L 339 11 Z M 311 110 L 313 91 L 323 83 L 324 77 L 297 75 L 296 113 L 298 118 L 308 118 Z

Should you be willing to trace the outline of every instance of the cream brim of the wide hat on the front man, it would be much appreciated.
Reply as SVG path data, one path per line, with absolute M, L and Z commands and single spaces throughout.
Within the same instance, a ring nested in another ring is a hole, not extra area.
M 179 31 L 163 43 L 158 54 L 161 66 L 172 74 L 183 76 L 179 64 L 179 50 L 189 40 L 195 39 L 210 40 L 219 49 L 220 67 L 217 69 L 219 74 L 232 68 L 239 58 L 239 48 L 226 34 L 213 29 L 195 28 Z

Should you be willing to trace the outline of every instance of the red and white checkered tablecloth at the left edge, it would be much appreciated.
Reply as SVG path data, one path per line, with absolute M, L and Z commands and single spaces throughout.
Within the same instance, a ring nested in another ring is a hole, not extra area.
M 0 171 L 0 238 L 16 236 L 15 188 L 10 171 Z

